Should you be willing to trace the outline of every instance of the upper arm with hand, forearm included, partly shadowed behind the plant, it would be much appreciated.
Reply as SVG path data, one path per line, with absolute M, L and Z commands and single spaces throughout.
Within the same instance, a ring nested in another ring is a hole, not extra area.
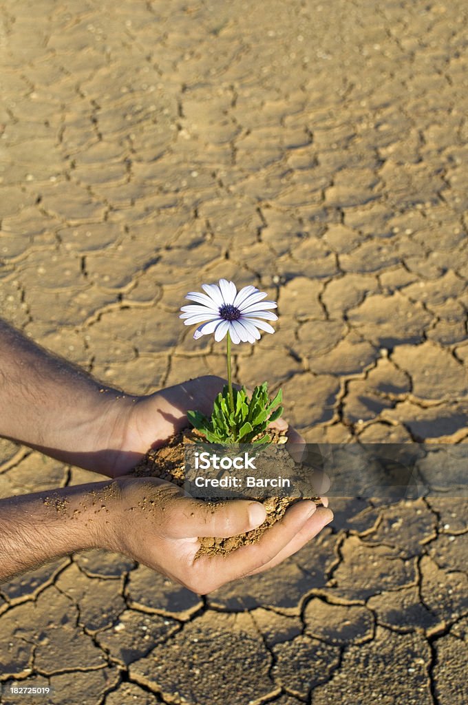
M 150 446 L 183 428 L 187 410 L 210 414 L 223 384 L 204 376 L 149 396 L 128 395 L 0 319 L 0 436 L 109 477 L 125 474 Z

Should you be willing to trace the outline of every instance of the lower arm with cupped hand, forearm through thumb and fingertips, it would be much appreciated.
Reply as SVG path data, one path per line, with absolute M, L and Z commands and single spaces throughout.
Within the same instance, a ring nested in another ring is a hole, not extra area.
M 121 477 L 2 499 L 0 582 L 73 551 L 107 548 L 204 594 L 273 567 L 312 539 L 333 514 L 302 501 L 257 544 L 228 556 L 195 558 L 198 537 L 231 537 L 264 518 L 257 502 L 204 503 L 156 478 Z

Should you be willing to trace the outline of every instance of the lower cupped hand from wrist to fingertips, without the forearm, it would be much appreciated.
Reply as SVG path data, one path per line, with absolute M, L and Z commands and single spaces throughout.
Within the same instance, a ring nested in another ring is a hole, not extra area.
M 300 501 L 256 544 L 226 556 L 199 556 L 199 537 L 231 537 L 261 525 L 263 505 L 248 500 L 206 503 L 156 478 L 121 477 L 108 548 L 124 553 L 199 594 L 272 568 L 298 551 L 333 519 L 326 508 Z M 108 525 L 109 526 L 109 525 Z

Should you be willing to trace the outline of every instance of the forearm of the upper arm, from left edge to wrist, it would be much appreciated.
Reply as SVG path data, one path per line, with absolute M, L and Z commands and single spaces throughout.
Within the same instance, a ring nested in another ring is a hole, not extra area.
M 129 403 L 0 320 L 0 436 L 105 472 Z

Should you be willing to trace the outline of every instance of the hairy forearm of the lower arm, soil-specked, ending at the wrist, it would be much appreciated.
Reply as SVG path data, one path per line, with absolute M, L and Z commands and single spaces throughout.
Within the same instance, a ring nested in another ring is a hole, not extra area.
M 119 496 L 107 481 L 1 499 L 0 582 L 74 551 L 107 548 Z

